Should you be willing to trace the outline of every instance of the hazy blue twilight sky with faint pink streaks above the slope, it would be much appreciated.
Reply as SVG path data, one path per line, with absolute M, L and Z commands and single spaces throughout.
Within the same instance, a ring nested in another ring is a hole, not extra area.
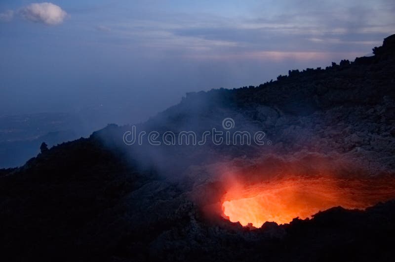
M 393 0 L 41 3 L 0 1 L 0 115 L 141 121 L 185 92 L 354 60 L 395 33 Z

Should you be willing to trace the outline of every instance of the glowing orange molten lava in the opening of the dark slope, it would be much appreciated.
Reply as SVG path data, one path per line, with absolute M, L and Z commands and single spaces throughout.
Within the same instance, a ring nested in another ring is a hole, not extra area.
M 266 221 L 283 224 L 297 217 L 311 218 L 331 207 L 365 209 L 394 197 L 394 178 L 383 181 L 293 177 L 249 187 L 238 185 L 224 196 L 222 207 L 232 222 L 260 227 Z

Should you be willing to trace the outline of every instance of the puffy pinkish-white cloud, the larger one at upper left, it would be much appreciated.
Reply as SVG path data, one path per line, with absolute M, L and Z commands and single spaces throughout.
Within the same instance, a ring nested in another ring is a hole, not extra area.
M 29 4 L 22 7 L 19 14 L 29 21 L 46 25 L 61 24 L 67 16 L 60 6 L 49 2 Z

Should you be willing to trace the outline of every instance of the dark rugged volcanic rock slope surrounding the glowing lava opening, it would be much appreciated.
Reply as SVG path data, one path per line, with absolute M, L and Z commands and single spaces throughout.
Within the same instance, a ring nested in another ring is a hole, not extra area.
M 393 181 L 395 35 L 374 54 L 190 93 L 136 126 L 201 134 L 232 118 L 232 131 L 264 131 L 265 145 L 128 146 L 132 126 L 109 125 L 0 170 L 2 260 L 393 261 L 390 196 L 255 229 L 220 210 L 229 171 L 251 184 L 290 174 Z

